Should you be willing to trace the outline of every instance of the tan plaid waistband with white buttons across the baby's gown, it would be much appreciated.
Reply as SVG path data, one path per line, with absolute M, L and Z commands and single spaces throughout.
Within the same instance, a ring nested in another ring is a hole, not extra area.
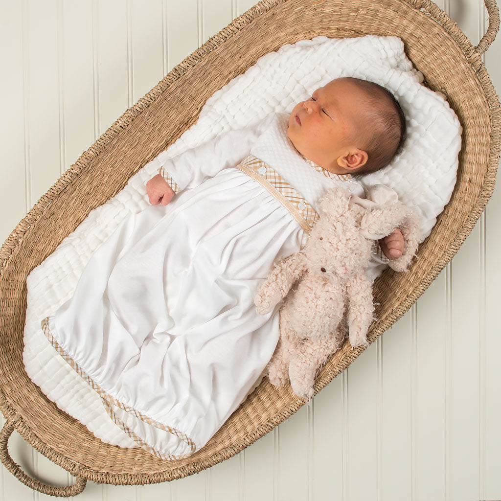
M 246 156 L 236 168 L 260 182 L 291 212 L 307 233 L 311 231 L 319 215 L 278 172 L 254 155 Z

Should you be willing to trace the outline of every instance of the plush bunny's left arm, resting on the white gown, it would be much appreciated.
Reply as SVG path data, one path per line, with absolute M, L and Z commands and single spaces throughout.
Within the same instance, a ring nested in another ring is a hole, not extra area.
M 277 263 L 254 299 L 256 311 L 260 315 L 269 313 L 287 296 L 294 282 L 301 278 L 306 268 L 306 257 L 301 252 Z

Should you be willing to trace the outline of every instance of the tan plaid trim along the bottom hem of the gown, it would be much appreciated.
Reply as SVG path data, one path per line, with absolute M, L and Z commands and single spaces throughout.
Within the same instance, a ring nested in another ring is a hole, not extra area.
M 85 371 L 82 370 L 82 368 L 66 353 L 66 351 L 59 345 L 59 343 L 54 339 L 54 337 L 51 334 L 50 328 L 49 328 L 49 318 L 46 317 L 44 320 L 42 320 L 42 330 L 44 331 L 44 334 L 46 335 L 47 339 L 50 341 L 52 346 L 56 349 L 56 352 L 65 360 L 66 363 L 68 363 L 74 370 L 75 372 L 101 397 L 103 401 L 103 405 L 108 412 L 108 415 L 112 419 L 112 421 L 119 426 L 127 435 L 129 435 L 132 440 L 134 440 L 138 445 L 140 445 L 143 449 L 146 449 L 148 452 L 151 454 L 160 457 L 161 459 L 183 459 L 185 457 L 190 456 L 195 450 L 196 446 L 191 440 L 191 438 L 181 431 L 177 430 L 176 428 L 172 428 L 170 426 L 166 426 L 162 423 L 159 423 L 155 419 L 151 419 L 148 416 L 145 416 L 138 410 L 134 409 L 133 407 L 130 407 L 119 400 L 116 400 L 113 398 L 111 395 L 108 395 L 91 377 L 89 377 Z M 129 414 L 132 414 L 133 416 L 137 417 L 141 421 L 144 421 L 145 423 L 149 424 L 150 426 L 153 426 L 155 428 L 159 428 L 161 430 L 167 431 L 168 433 L 172 433 L 173 435 L 177 436 L 179 439 L 181 439 L 183 442 L 188 444 L 190 447 L 190 452 L 188 454 L 183 454 L 179 456 L 175 456 L 172 454 L 162 454 L 161 452 L 156 451 L 153 449 L 148 443 L 146 443 L 141 437 L 136 435 L 121 419 L 118 418 L 118 416 L 115 414 L 113 408 L 111 405 L 114 405 L 118 407 L 119 409 L 124 410 L 125 412 L 128 412 Z

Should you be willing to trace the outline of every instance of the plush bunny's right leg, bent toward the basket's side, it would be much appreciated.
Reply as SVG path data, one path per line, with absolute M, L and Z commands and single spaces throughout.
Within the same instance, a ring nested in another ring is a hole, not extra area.
M 318 369 L 330 355 L 341 348 L 344 330 L 338 327 L 335 334 L 316 339 L 307 339 L 298 346 L 291 357 L 289 377 L 294 393 L 301 398 L 313 397 L 313 385 Z

